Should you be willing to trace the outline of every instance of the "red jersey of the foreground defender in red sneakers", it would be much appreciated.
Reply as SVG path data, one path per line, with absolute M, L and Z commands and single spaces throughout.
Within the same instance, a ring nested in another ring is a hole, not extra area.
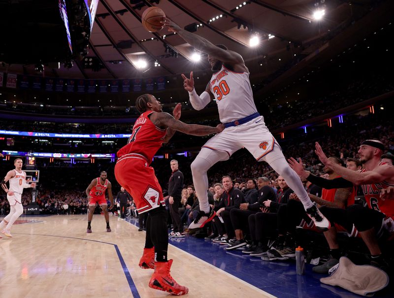
M 132 128 L 127 145 L 122 147 L 117 153 L 118 158 L 126 154 L 137 153 L 143 155 L 149 164 L 152 162 L 154 155 L 163 144 L 167 131 L 153 124 L 148 117 L 152 113 L 154 112 L 146 111 L 138 117 Z

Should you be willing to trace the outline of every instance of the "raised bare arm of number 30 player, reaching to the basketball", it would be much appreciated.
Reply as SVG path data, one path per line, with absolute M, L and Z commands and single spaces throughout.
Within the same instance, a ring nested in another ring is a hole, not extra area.
M 168 31 L 179 34 L 179 36 L 185 39 L 185 41 L 187 41 L 191 46 L 196 48 L 198 51 L 204 52 L 222 61 L 223 63 L 245 65 L 242 56 L 239 55 L 238 53 L 221 49 L 216 45 L 214 45 L 209 40 L 205 39 L 204 37 L 201 37 L 197 34 L 191 33 L 189 31 L 180 28 L 178 25 L 176 25 L 168 18 L 165 18 L 165 20 L 162 23 L 164 24 L 164 27 L 167 27 Z

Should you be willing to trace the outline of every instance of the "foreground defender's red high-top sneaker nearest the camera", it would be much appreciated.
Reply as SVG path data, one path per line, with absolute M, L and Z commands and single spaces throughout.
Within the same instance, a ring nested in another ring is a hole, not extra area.
M 155 272 L 149 281 L 149 288 L 165 291 L 177 296 L 188 294 L 189 289 L 178 285 L 169 274 L 171 265 L 172 260 L 168 262 L 155 262 Z

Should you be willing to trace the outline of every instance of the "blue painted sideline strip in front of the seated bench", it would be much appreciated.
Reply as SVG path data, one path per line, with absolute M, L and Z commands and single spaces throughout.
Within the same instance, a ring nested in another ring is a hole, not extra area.
M 127 221 L 138 226 L 135 219 Z M 241 250 L 227 251 L 225 245 L 212 244 L 210 240 L 189 235 L 185 238 L 169 238 L 168 242 L 278 298 L 361 297 L 342 288 L 322 284 L 319 279 L 326 275 L 313 273 L 312 265 L 309 264 L 306 265 L 305 275 L 297 275 L 296 262 L 293 260 L 262 261 L 261 258 L 243 254 Z M 374 297 L 394 297 L 393 293 L 391 283 L 384 293 Z

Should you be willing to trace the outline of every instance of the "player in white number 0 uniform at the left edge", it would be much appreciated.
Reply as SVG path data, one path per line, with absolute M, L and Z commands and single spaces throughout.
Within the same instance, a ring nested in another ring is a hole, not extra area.
M 15 169 L 10 170 L 1 181 L 2 189 L 7 193 L 10 205 L 9 214 L 0 223 L 0 231 L 7 237 L 12 237 L 11 226 L 23 213 L 22 193 L 24 188 L 35 187 L 35 183 L 29 184 L 26 181 L 26 172 L 22 170 L 22 159 L 14 161 Z M 6 182 L 9 181 L 9 188 Z M 4 228 L 5 227 L 5 228 Z M 1 238 L 1 236 L 0 236 Z

